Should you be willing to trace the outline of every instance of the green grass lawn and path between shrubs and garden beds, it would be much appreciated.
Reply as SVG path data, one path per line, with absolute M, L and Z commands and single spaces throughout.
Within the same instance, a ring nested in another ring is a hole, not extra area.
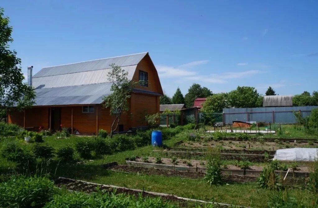
M 74 147 L 75 141 L 79 139 L 85 139 L 85 137 L 72 136 L 66 139 L 56 139 L 54 136 L 50 136 L 44 138 L 45 143 L 53 146 L 55 149 L 64 146 Z M 0 148 L 6 140 L 14 140 L 14 138 L 3 139 L 0 142 Z M 180 138 L 175 137 L 164 141 L 164 145 L 171 147 L 179 140 Z M 27 148 L 32 148 L 32 146 L 35 145 L 35 143 L 25 143 L 23 140 L 20 142 Z M 101 167 L 102 164 L 113 161 L 125 164 L 125 158 L 134 155 L 154 155 L 153 147 L 146 146 L 136 148 L 135 150 L 105 155 L 92 160 L 82 160 L 78 157 L 78 155 L 76 155 L 77 161 L 73 164 L 58 163 L 54 160 L 50 164 L 50 171 L 54 174 L 56 166 L 58 166 L 56 174 L 52 175 L 53 177 L 63 176 L 100 184 L 145 189 L 146 191 L 170 193 L 181 197 L 211 200 L 233 205 L 253 207 L 266 207 L 267 205 L 270 191 L 259 188 L 255 183 L 231 183 L 222 186 L 210 186 L 204 180 L 192 180 L 181 177 L 166 177 L 159 175 L 118 173 L 108 171 Z M 9 168 L 14 168 L 14 163 L 8 162 L 0 157 L 0 174 L 6 172 Z M 309 193 L 307 190 L 291 189 L 289 192 L 296 199 L 303 200 L 305 202 L 312 202 L 315 198 L 318 198 L 317 194 Z

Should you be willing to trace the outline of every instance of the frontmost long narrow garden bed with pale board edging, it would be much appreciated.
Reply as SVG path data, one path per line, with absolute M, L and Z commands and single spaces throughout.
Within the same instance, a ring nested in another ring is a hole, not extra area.
M 139 189 L 129 189 L 126 187 L 120 187 L 120 186 L 113 186 L 113 185 L 104 185 L 104 184 L 96 184 L 91 182 L 86 182 L 82 180 L 74 180 L 74 179 L 68 179 L 59 177 L 55 184 L 58 187 L 65 187 L 68 190 L 71 191 L 84 191 L 84 192 L 95 192 L 96 188 L 99 187 L 100 190 L 106 190 L 107 192 L 115 192 L 116 194 L 119 193 L 125 193 L 125 194 L 132 194 L 135 196 L 138 196 L 139 194 L 142 194 L 144 197 L 161 197 L 164 200 L 169 201 L 176 201 L 180 206 L 186 206 L 189 202 L 194 202 L 198 204 L 213 204 L 214 207 L 223 208 L 223 207 L 232 207 L 232 205 L 229 204 L 223 204 L 223 203 L 216 203 L 216 202 L 207 202 L 203 200 L 197 200 L 197 199 L 188 199 L 183 197 L 178 197 L 176 195 L 172 194 L 166 194 L 166 193 L 157 193 L 157 192 L 148 192 L 143 191 Z M 242 207 L 242 206 L 235 206 L 235 207 Z

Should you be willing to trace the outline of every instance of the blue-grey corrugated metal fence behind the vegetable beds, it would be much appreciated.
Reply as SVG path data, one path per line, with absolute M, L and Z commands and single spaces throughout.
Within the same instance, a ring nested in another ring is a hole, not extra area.
M 310 115 L 311 110 L 318 106 L 297 107 L 265 107 L 265 108 L 225 108 L 224 123 L 233 121 L 265 122 L 265 123 L 296 123 L 294 111 L 301 111 L 303 117 Z

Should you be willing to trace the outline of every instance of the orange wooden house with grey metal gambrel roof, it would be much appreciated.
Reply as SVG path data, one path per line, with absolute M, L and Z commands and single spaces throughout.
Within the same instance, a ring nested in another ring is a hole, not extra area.
M 159 97 L 163 95 L 148 52 L 41 69 L 29 80 L 35 88 L 35 104 L 8 115 L 9 123 L 25 129 L 59 130 L 63 126 L 82 134 L 97 134 L 98 129 L 109 132 L 114 118 L 102 102 L 111 93 L 107 74 L 112 63 L 127 71 L 128 79 L 146 81 L 135 87 L 128 100 L 130 111 L 121 116 L 117 131 L 146 126 L 145 115 L 159 112 Z

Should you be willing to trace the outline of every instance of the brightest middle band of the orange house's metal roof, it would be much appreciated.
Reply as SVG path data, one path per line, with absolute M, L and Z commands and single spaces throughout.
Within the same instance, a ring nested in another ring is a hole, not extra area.
M 121 69 L 128 72 L 128 79 L 131 80 L 134 76 L 137 65 L 122 66 Z M 52 88 L 52 87 L 66 87 L 76 85 L 91 85 L 99 83 L 107 83 L 108 72 L 112 69 L 101 69 L 95 71 L 85 71 L 71 74 L 59 74 L 55 76 L 37 77 L 33 78 L 34 88 Z

